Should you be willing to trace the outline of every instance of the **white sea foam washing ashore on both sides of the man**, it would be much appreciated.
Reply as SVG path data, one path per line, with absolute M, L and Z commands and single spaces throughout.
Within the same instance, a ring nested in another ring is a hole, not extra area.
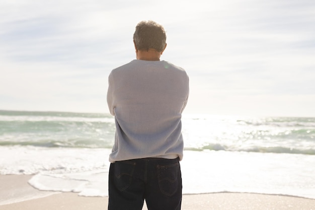
M 29 184 L 42 191 L 107 196 L 109 153 L 107 149 L 0 147 L 1 156 L 5 154 L 0 157 L 0 173 L 35 174 Z M 314 166 L 311 155 L 184 151 L 183 193 L 254 192 L 315 198 Z

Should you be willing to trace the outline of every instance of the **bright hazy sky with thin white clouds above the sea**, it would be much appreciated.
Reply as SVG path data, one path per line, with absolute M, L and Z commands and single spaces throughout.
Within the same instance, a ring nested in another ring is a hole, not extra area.
M 108 113 L 142 20 L 190 77 L 184 113 L 315 117 L 313 0 L 0 0 L 0 110 Z

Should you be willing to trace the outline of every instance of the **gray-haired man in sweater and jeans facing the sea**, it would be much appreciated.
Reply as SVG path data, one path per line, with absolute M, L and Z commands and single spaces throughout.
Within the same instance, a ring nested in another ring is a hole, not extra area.
M 183 158 L 181 116 L 189 95 L 184 69 L 160 60 L 166 32 L 142 21 L 135 29 L 135 60 L 109 75 L 107 103 L 115 116 L 110 154 L 109 210 L 179 210 Z

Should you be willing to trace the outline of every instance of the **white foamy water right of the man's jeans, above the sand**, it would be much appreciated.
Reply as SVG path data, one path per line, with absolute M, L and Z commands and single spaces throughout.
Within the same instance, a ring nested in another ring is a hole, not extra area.
M 185 151 L 183 193 L 253 192 L 315 198 L 315 156 Z

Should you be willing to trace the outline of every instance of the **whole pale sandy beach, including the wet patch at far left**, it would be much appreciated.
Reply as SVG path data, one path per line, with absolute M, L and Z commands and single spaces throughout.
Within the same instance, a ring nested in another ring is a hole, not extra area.
M 27 181 L 30 175 L 0 176 L 0 210 L 107 209 L 108 197 L 83 197 L 77 193 L 39 191 Z M 14 203 L 9 203 L 15 200 Z M 24 200 L 24 201 L 22 201 Z M 7 202 L 7 204 L 3 204 Z M 146 210 L 144 204 L 143 210 Z M 254 193 L 183 195 L 182 209 L 215 210 L 315 210 L 315 199 Z

